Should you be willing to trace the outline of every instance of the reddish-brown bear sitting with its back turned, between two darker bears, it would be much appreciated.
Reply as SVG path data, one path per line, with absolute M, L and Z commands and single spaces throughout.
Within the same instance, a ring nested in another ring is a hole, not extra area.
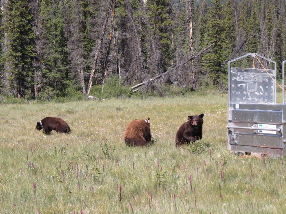
M 151 141 L 150 118 L 144 120 L 135 119 L 131 121 L 124 131 L 126 145 L 146 146 Z

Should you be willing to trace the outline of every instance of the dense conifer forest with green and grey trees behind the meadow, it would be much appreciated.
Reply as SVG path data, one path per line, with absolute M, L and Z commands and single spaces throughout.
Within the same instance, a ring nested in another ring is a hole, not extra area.
M 1 0 L 0 95 L 152 78 L 145 88 L 225 90 L 227 62 L 247 53 L 276 61 L 281 78 L 285 37 L 286 0 Z

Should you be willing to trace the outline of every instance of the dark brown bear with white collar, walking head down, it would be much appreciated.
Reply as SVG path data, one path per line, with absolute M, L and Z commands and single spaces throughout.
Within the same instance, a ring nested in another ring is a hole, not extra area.
M 40 122 L 37 122 L 36 130 L 42 130 L 46 134 L 49 134 L 52 130 L 56 130 L 59 133 L 70 133 L 71 129 L 69 125 L 63 119 L 59 117 L 45 117 Z

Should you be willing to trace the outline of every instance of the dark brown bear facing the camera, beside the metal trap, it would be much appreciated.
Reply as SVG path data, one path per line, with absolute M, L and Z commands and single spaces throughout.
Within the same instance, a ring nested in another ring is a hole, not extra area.
M 189 144 L 203 138 L 203 114 L 188 116 L 185 122 L 176 133 L 176 147 L 182 144 Z

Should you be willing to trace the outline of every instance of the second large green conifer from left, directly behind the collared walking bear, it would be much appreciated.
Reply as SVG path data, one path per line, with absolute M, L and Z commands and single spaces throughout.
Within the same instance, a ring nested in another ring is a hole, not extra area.
M 55 94 L 64 93 L 65 88 L 72 84 L 67 54 L 67 41 L 63 30 L 64 12 L 60 1 L 42 0 L 39 25 L 41 26 L 42 62 L 44 64 L 43 88 Z M 47 88 L 47 86 L 49 86 Z M 43 92 L 43 91 L 42 91 Z

